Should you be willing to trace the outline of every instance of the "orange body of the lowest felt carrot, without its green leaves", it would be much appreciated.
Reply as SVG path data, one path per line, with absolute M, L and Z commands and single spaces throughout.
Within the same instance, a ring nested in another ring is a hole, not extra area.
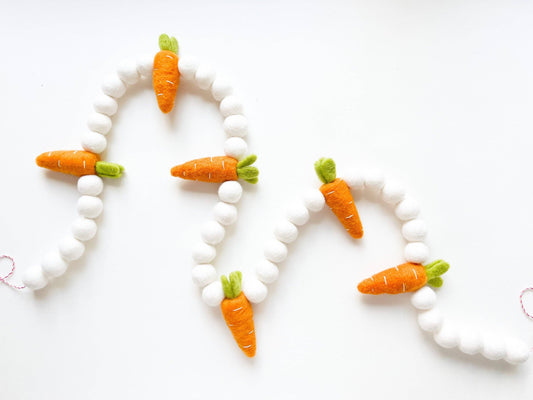
M 241 350 L 248 357 L 253 357 L 255 355 L 254 312 L 244 293 L 241 292 L 234 299 L 224 299 L 220 309 L 226 325 Z

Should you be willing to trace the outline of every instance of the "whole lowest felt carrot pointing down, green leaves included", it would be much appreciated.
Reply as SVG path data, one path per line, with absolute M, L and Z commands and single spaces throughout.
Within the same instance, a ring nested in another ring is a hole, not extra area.
M 235 271 L 220 278 L 226 298 L 220 309 L 233 338 L 248 357 L 255 356 L 254 311 L 252 305 L 241 291 L 242 274 Z

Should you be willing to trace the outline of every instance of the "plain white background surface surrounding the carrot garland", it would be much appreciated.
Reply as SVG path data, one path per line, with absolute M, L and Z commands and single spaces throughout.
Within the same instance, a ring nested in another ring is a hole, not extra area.
M 38 169 L 35 156 L 78 148 L 103 76 L 155 53 L 168 32 L 235 82 L 259 155 L 260 184 L 246 186 L 218 249 L 221 273 L 253 271 L 327 155 L 339 175 L 378 167 L 420 201 L 432 257 L 452 266 L 439 290 L 448 318 L 533 345 L 518 303 L 533 284 L 533 4 L 266 3 L 2 0 L 0 252 L 17 277 L 76 215 L 76 179 Z M 443 350 L 408 296 L 356 291 L 403 260 L 400 224 L 368 199 L 360 242 L 327 210 L 300 231 L 254 307 L 258 351 L 247 359 L 190 280 L 216 186 L 169 174 L 222 153 L 216 104 L 183 84 L 163 115 L 145 82 L 113 122 L 106 159 L 127 175 L 106 187 L 87 255 L 36 295 L 0 287 L 2 400 L 533 396 L 533 361 Z

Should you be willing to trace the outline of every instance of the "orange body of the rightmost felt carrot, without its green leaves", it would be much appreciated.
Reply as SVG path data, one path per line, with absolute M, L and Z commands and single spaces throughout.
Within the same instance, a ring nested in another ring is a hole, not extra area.
M 426 283 L 427 274 L 423 265 L 405 263 L 365 279 L 357 289 L 364 294 L 398 294 L 414 292 Z

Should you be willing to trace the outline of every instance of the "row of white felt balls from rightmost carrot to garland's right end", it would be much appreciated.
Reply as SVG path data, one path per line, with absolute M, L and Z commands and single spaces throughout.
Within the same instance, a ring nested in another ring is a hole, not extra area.
M 432 333 L 439 346 L 447 349 L 457 347 L 465 354 L 479 353 L 489 360 L 505 360 L 511 364 L 521 364 L 529 358 L 530 349 L 522 340 L 461 329 L 443 317 L 435 306 L 436 302 L 437 295 L 428 286 L 419 289 L 411 298 L 413 306 L 420 310 L 420 328 Z

